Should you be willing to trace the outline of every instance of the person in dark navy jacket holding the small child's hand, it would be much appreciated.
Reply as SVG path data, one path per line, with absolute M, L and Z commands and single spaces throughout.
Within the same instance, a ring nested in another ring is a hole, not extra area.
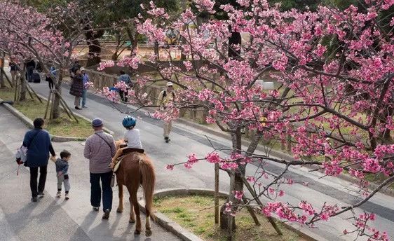
M 37 197 L 43 197 L 49 153 L 53 157 L 56 156 L 50 142 L 49 133 L 42 129 L 43 123 L 42 118 L 36 118 L 33 122 L 34 129 L 26 132 L 25 138 L 23 139 L 23 146 L 27 147 L 25 166 L 30 168 L 30 189 L 32 190 L 33 202 L 37 201 Z M 40 178 L 37 186 L 39 168 Z

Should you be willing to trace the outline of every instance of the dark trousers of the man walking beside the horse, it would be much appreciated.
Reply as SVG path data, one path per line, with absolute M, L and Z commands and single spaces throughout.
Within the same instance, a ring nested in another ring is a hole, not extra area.
M 112 209 L 112 172 L 91 173 L 90 172 L 90 204 L 93 207 L 100 207 L 102 189 L 103 210 Z M 100 187 L 100 179 L 102 188 Z

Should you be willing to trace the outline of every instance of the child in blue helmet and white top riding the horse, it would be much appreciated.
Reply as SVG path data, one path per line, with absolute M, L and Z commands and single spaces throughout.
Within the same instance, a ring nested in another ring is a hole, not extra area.
M 116 163 L 116 159 L 122 155 L 124 149 L 132 148 L 132 149 L 142 149 L 140 130 L 135 128 L 135 124 L 137 120 L 133 116 L 126 116 L 123 118 L 122 125 L 126 128 L 124 140 L 127 143 L 127 146 L 116 151 L 114 158 L 112 158 L 111 165 L 109 167 L 114 168 Z

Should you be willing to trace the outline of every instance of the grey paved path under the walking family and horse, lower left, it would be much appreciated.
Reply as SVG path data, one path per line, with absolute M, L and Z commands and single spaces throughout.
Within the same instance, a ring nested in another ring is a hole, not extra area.
M 114 211 L 109 220 L 101 219 L 102 212 L 90 207 L 89 168 L 81 156 L 80 142 L 53 143 L 57 153 L 67 149 L 70 161 L 70 199 L 55 198 L 57 179 L 55 165 L 49 163 L 46 196 L 39 202 L 30 201 L 29 171 L 21 166 L 19 176 L 13 160 L 14 150 L 20 146 L 27 128 L 18 118 L 0 106 L 0 240 L 179 240 L 152 223 L 153 235 L 133 235 L 135 224 L 128 223 L 128 196 L 125 211 L 117 214 L 118 192 L 114 188 Z M 5 128 L 6 127 L 6 128 Z M 5 144 L 6 143 L 6 144 Z M 63 193 L 64 195 L 64 193 Z M 144 216 L 142 216 L 144 221 Z

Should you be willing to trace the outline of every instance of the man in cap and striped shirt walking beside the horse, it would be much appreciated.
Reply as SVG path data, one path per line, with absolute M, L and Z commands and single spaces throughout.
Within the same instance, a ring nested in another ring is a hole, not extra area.
M 115 156 L 116 146 L 114 137 L 102 130 L 102 120 L 95 118 L 92 121 L 92 127 L 95 134 L 86 139 L 83 151 L 83 156 L 89 159 L 90 205 L 92 205 L 93 210 L 98 211 L 102 198 L 104 211 L 102 219 L 108 219 L 112 209 L 112 169 L 108 166 L 111 163 L 111 158 Z

